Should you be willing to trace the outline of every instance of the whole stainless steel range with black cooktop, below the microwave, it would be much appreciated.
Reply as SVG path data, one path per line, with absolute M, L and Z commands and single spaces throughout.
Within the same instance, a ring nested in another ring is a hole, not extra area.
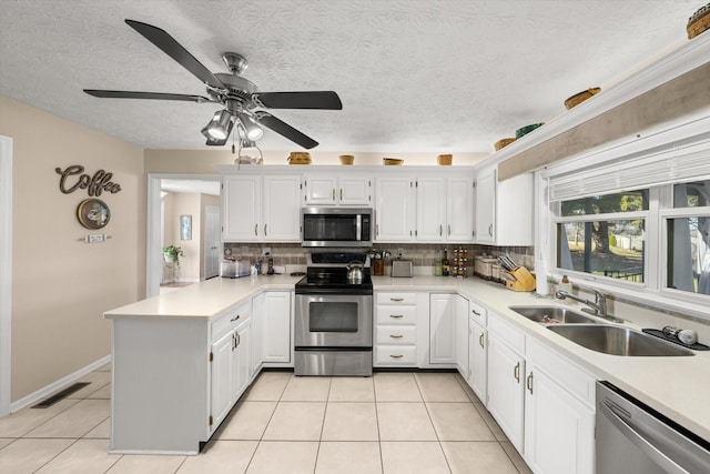
M 362 281 L 353 278 L 359 272 Z M 367 254 L 311 253 L 295 293 L 295 374 L 372 375 L 373 282 Z

